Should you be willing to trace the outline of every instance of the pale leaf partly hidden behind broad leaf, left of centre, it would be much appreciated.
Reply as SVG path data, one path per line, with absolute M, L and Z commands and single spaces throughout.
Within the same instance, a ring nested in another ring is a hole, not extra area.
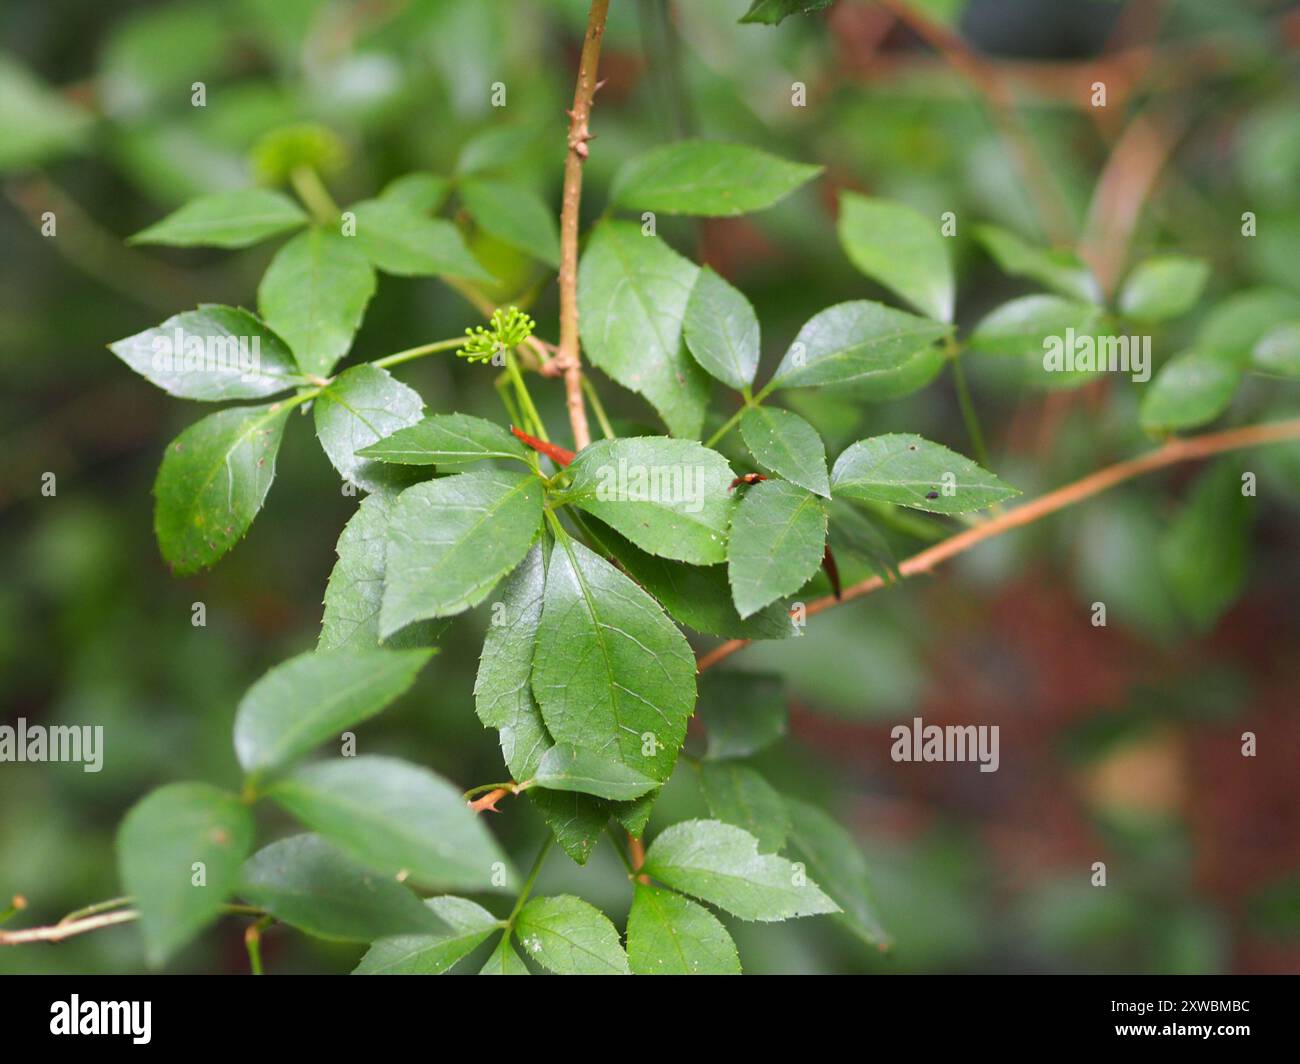
M 395 497 L 368 496 L 338 537 L 338 561 L 325 587 L 325 617 L 316 649 L 370 649 L 381 644 L 380 604 L 387 568 L 389 525 L 395 507 Z M 419 622 L 382 643 L 391 648 L 426 646 L 433 637 L 434 626 Z

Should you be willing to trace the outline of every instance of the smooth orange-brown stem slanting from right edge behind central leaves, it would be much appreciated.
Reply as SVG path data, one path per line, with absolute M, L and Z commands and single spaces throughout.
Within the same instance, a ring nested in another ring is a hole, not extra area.
M 950 536 L 922 550 L 919 554 L 914 554 L 898 566 L 898 572 L 901 576 L 915 576 L 919 572 L 930 572 L 941 562 L 946 562 L 949 558 L 970 550 L 972 546 L 984 542 L 984 540 L 991 540 L 994 536 L 1001 536 L 1004 532 L 1010 532 L 1013 528 L 1031 524 L 1049 514 L 1092 498 L 1108 488 L 1114 488 L 1117 484 L 1123 484 L 1126 480 L 1132 480 L 1143 473 L 1162 470 L 1166 466 L 1175 466 L 1179 462 L 1195 462 L 1196 459 L 1209 458 L 1225 451 L 1254 447 L 1261 444 L 1280 444 L 1286 440 L 1300 440 L 1300 418 L 1170 440 L 1153 451 L 1124 462 L 1117 462 L 1114 466 L 1108 466 L 1104 470 L 1089 473 L 1086 477 L 1075 480 L 1072 484 L 1066 484 L 1063 488 L 1048 492 L 1032 502 L 1017 506 L 1014 510 L 1008 510 L 996 518 L 958 532 L 956 536 Z M 840 602 L 849 602 L 864 594 L 871 594 L 871 592 L 880 591 L 883 587 L 885 587 L 885 581 L 880 576 L 870 576 L 853 587 L 845 588 L 838 600 L 828 594 L 810 602 L 807 605 L 807 615 L 811 617 L 812 614 L 837 606 Z M 723 643 L 702 654 L 696 662 L 696 669 L 703 672 L 706 669 L 711 669 L 720 661 L 729 658 L 737 650 L 744 650 L 748 645 L 749 640 L 746 639 L 733 639 Z

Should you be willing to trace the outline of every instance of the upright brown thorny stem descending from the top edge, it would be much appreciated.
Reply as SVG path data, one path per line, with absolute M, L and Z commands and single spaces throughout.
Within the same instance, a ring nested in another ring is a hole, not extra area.
M 610 0 L 592 0 L 586 18 L 582 57 L 578 60 L 573 108 L 569 111 L 568 155 L 564 157 L 564 194 L 560 202 L 560 342 L 559 360 L 564 367 L 564 402 L 573 429 L 573 449 L 582 450 L 592 442 L 582 405 L 582 363 L 577 334 L 577 230 L 582 203 L 582 163 L 588 155 L 592 133 L 592 98 L 598 87 L 597 66 L 601 61 L 601 39 Z

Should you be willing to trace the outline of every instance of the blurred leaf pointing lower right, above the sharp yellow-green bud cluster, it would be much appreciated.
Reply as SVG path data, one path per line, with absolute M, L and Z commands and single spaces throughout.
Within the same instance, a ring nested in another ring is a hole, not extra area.
M 450 221 L 430 219 L 399 199 L 368 199 L 351 208 L 358 246 L 385 273 L 491 281 Z

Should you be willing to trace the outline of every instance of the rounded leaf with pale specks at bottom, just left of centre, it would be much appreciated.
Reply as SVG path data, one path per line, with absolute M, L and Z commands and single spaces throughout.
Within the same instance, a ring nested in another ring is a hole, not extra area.
M 534 898 L 515 921 L 519 944 L 556 976 L 630 976 L 610 918 L 581 898 Z

